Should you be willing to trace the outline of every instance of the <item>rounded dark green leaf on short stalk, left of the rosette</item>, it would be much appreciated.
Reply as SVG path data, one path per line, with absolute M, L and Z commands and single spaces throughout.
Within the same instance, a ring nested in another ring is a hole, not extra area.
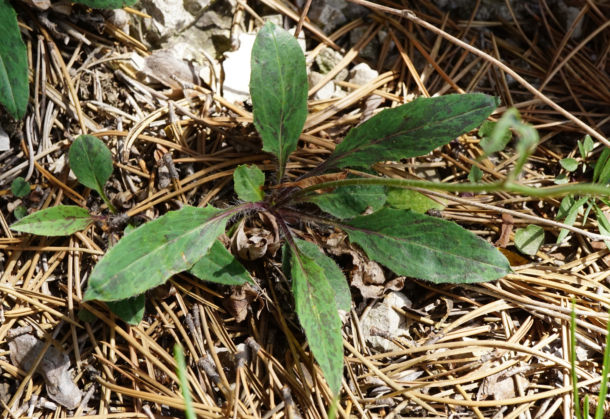
M 106 144 L 93 135 L 81 135 L 70 146 L 70 168 L 88 188 L 104 195 L 104 185 L 112 174 L 112 154 Z

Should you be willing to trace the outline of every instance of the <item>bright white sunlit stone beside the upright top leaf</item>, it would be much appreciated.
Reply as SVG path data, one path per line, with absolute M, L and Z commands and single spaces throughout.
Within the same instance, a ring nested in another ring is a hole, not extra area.
M 250 59 L 255 39 L 255 34 L 241 34 L 239 49 L 224 53 L 223 98 L 231 103 L 239 104 L 250 97 Z

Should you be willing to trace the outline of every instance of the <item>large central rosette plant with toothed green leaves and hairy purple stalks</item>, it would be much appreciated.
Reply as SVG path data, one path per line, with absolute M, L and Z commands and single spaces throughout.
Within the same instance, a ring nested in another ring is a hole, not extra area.
M 238 215 L 248 220 L 257 212 L 265 213 L 281 233 L 283 266 L 292 282 L 298 320 L 337 395 L 343 374 L 338 312 L 350 310 L 350 288 L 337 263 L 315 244 L 298 238 L 289 224 L 337 227 L 370 259 L 402 276 L 456 283 L 491 281 L 509 273 L 506 257 L 458 224 L 384 207 L 386 187 L 398 185 L 396 179 L 363 171 L 380 161 L 424 156 L 446 145 L 486 121 L 498 98 L 483 93 L 417 98 L 383 110 L 351 129 L 328 159 L 296 181 L 286 182 L 287 162 L 307 119 L 307 74 L 295 38 L 270 21 L 254 43 L 250 92 L 263 149 L 277 157 L 275 175 L 266 178 L 256 165 L 238 167 L 234 185 L 239 204 L 229 209 L 184 206 L 124 235 L 96 264 L 86 300 L 127 307 L 137 323 L 142 318 L 143 293 L 174 274 L 188 271 L 205 281 L 229 285 L 252 281 L 217 238 Z M 321 212 L 307 212 L 312 204 Z M 361 215 L 367 207 L 368 215 Z M 29 217 L 13 224 L 13 229 L 35 232 L 24 227 Z

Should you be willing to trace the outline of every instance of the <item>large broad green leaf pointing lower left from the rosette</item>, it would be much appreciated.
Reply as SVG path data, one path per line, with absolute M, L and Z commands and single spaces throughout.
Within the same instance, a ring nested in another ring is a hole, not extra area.
M 188 270 L 224 232 L 235 210 L 185 206 L 138 227 L 106 252 L 89 278 L 85 300 L 140 295 Z

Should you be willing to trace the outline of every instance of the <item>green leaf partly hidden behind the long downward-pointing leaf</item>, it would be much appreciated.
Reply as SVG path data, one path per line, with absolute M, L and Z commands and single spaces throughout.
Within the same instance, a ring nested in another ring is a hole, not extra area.
M 340 270 L 339 266 L 337 266 L 337 263 L 330 257 L 326 256 L 326 254 L 324 254 L 324 252 L 321 251 L 317 245 L 314 245 L 314 243 L 295 239 L 295 244 L 305 256 L 310 257 L 320 268 L 324 270 L 324 276 L 331 285 L 332 291 L 335 293 L 337 309 L 344 310 L 346 312 L 350 311 L 350 285 L 347 284 L 345 275 Z

